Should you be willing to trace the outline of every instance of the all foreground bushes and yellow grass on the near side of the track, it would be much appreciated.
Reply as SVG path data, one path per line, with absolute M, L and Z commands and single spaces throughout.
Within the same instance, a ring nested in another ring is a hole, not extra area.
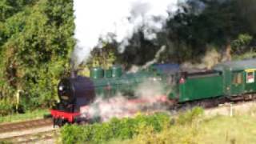
M 234 115 L 206 115 L 201 108 L 166 114 L 112 119 L 92 126 L 64 126 L 63 143 L 255 143 L 255 106 Z

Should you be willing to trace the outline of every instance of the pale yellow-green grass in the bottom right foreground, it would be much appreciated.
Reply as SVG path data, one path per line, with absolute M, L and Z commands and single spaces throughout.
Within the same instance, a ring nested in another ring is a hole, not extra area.
M 177 123 L 166 127 L 160 133 L 144 128 L 138 136 L 125 141 L 114 139 L 108 143 L 196 143 L 196 144 L 253 144 L 256 143 L 256 110 L 238 113 L 233 117 L 225 115 L 202 116 L 192 123 Z

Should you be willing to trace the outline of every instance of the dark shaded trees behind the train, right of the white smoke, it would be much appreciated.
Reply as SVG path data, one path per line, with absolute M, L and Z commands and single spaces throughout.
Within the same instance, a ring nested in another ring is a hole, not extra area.
M 241 34 L 249 35 L 252 40 L 239 53 L 235 47 L 232 47 L 232 52 L 245 53 L 255 46 L 255 7 L 256 2 L 251 0 L 180 2 L 178 10 L 169 14 L 165 28 L 158 33 L 158 39 L 146 41 L 140 32 L 134 34 L 121 60 L 129 62 L 128 65 L 143 65 L 165 45 L 167 49 L 158 62 L 198 62 L 211 47 L 224 53 Z

